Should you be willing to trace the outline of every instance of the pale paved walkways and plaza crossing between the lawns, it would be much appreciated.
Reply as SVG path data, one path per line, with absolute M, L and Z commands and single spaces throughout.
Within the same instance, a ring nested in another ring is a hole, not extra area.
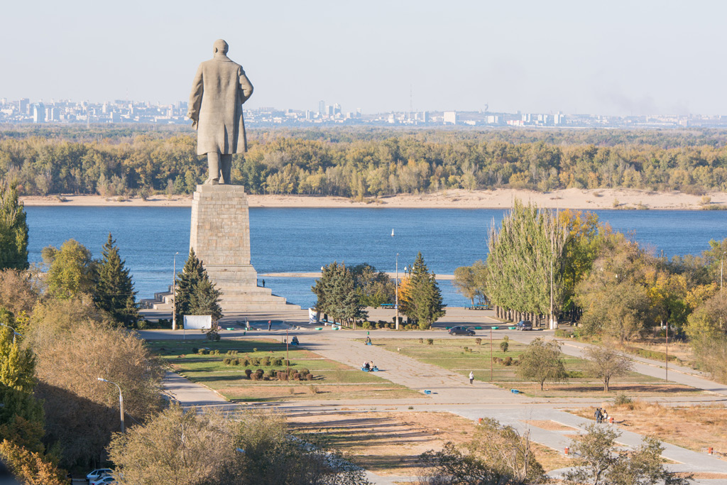
M 377 315 L 384 317 L 391 313 L 390 310 L 372 310 L 371 319 L 377 319 Z M 490 314 L 488 314 L 490 313 Z M 365 330 L 332 331 L 330 327 L 318 331 L 314 326 L 308 324 L 305 310 L 291 311 L 286 313 L 257 313 L 249 315 L 250 321 L 276 321 L 273 330 L 268 332 L 267 326 L 260 324 L 260 329 L 254 329 L 243 336 L 242 329 L 235 323 L 240 318 L 230 316 L 225 318 L 222 326 L 230 325 L 235 330 L 223 330 L 222 338 L 260 338 L 273 337 L 281 338 L 285 332 L 297 335 L 302 342 L 303 348 L 308 348 L 326 358 L 339 361 L 343 364 L 361 366 L 364 361 L 376 362 L 379 369 L 379 377 L 404 385 L 408 388 L 422 392 L 421 398 L 415 399 L 370 399 L 366 401 L 285 401 L 280 403 L 265 404 L 230 404 L 212 390 L 202 385 L 196 385 L 177 374 L 169 373 L 165 379 L 165 388 L 174 394 L 178 401 L 185 406 L 220 406 L 226 409 L 234 409 L 238 406 L 249 408 L 250 406 L 278 409 L 286 414 L 321 414 L 322 419 L 326 412 L 340 411 L 341 409 L 358 409 L 361 411 L 385 411 L 393 410 L 406 412 L 409 406 L 416 411 L 438 411 L 451 412 L 467 419 L 476 421 L 480 417 L 492 417 L 503 424 L 512 425 L 515 429 L 524 433 L 530 433 L 533 441 L 548 446 L 552 449 L 563 452 L 569 446 L 571 438 L 578 433 L 585 425 L 593 420 L 587 420 L 575 414 L 561 410 L 567 407 L 582 407 L 588 405 L 600 405 L 603 398 L 531 398 L 523 395 L 510 393 L 508 390 L 491 385 L 488 382 L 475 381 L 470 385 L 467 379 L 461 374 L 451 372 L 439 366 L 424 364 L 413 358 L 403 356 L 394 351 L 379 348 L 376 345 L 364 345 L 361 340 L 366 337 Z M 243 317 L 244 319 L 244 317 Z M 383 318 L 381 318 L 383 319 Z M 443 332 L 444 326 L 451 324 L 471 324 L 483 326 L 483 331 L 489 334 L 489 326 L 502 324 L 491 318 L 491 312 L 481 310 L 465 310 L 463 308 L 448 308 L 448 315 L 438 322 L 437 329 L 430 331 L 407 331 L 395 332 L 390 330 L 371 331 L 371 338 L 376 342 L 386 338 L 447 338 Z M 239 329 L 238 329 L 239 328 Z M 535 337 L 553 337 L 552 331 L 540 332 L 514 332 L 497 330 L 497 337 L 507 334 L 511 340 L 527 343 Z M 141 332 L 147 339 L 182 338 L 180 332 L 166 330 L 150 330 Z M 483 334 L 481 332 L 478 332 Z M 187 338 L 200 338 L 201 334 L 188 334 Z M 562 340 L 563 352 L 573 356 L 580 356 L 587 344 Z M 635 371 L 654 377 L 664 377 L 663 363 L 650 361 L 649 359 L 634 358 Z M 176 377 L 175 377 L 176 376 Z M 717 384 L 705 379 L 699 372 L 692 369 L 672 367 L 670 365 L 669 378 L 672 382 L 685 384 L 694 388 L 708 391 L 701 396 L 681 396 L 675 398 L 646 398 L 647 401 L 661 401 L 670 404 L 702 404 L 723 405 L 727 396 L 727 386 Z M 425 395 L 424 390 L 430 390 Z M 617 418 L 617 417 L 616 417 Z M 552 420 L 558 422 L 571 430 L 545 430 L 529 425 L 530 420 Z M 616 428 L 618 426 L 616 425 Z M 632 433 L 628 430 L 618 428 L 622 436 L 618 442 L 624 446 L 635 447 L 640 444 L 643 436 Z M 727 485 L 727 461 L 720 460 L 706 453 L 694 452 L 688 449 L 664 444 L 663 457 L 673 463 L 667 465 L 670 470 L 685 471 L 692 473 L 716 473 L 722 478 L 696 480 L 697 484 Z M 561 471 L 551 472 L 551 476 L 558 476 Z M 394 481 L 409 481 L 411 477 L 381 477 L 369 473 L 369 478 L 376 484 L 393 484 Z

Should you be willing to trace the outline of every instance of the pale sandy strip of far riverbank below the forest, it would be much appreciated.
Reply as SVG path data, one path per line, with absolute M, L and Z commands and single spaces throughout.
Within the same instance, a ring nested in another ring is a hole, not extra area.
M 708 193 L 710 206 L 727 207 L 727 193 Z M 151 196 L 124 199 L 102 196 L 25 196 L 27 206 L 121 206 L 121 207 L 190 207 L 191 196 Z M 505 209 L 514 199 L 533 202 L 539 207 L 553 209 L 702 209 L 702 196 L 680 192 L 650 192 L 630 189 L 582 190 L 569 188 L 562 191 L 540 193 L 515 189 L 491 191 L 440 191 L 426 194 L 401 194 L 398 196 L 353 201 L 344 197 L 323 196 L 271 196 L 249 195 L 250 207 L 394 207 L 403 209 Z M 616 205 L 617 204 L 617 205 Z

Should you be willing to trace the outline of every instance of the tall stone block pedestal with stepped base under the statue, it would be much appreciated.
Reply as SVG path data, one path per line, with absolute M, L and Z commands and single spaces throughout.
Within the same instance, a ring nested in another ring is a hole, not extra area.
M 291 308 L 285 298 L 257 286 L 257 272 L 250 264 L 247 196 L 241 185 L 197 185 L 189 245 L 222 291 L 223 312 Z

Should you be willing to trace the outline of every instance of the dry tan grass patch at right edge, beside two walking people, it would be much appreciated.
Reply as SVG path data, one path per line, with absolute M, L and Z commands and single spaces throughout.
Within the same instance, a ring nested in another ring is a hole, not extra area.
M 715 457 L 727 460 L 727 408 L 724 406 L 671 407 L 638 400 L 622 406 L 604 406 L 619 428 L 654 436 L 695 452 L 706 452 L 712 446 Z M 594 411 L 593 407 L 570 410 L 589 419 L 593 419 Z

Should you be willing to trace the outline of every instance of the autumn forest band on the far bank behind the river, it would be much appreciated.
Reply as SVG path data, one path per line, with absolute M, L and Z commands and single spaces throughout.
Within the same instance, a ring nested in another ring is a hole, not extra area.
M 363 199 L 447 189 L 727 189 L 720 130 L 251 130 L 233 157 L 248 193 Z M 10 127 L 0 177 L 21 195 L 146 197 L 194 191 L 206 177 L 196 134 L 129 126 Z

